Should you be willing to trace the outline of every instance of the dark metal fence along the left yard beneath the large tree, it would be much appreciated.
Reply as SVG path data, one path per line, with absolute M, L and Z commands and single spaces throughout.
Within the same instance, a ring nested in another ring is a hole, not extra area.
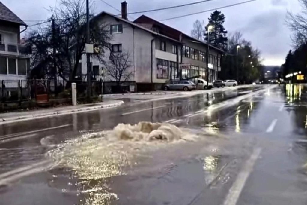
M 87 97 L 87 82 L 73 81 L 77 84 L 77 100 Z M 56 100 L 71 102 L 71 83 L 65 80 L 0 80 L 0 104 L 35 102 L 48 103 Z M 92 81 L 91 96 L 101 94 L 102 84 Z

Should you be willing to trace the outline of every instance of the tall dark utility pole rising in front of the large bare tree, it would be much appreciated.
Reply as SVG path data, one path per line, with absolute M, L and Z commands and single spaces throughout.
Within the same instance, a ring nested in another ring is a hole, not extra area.
M 89 0 L 86 0 L 86 43 L 90 43 L 90 12 Z M 91 101 L 91 62 L 90 53 L 86 52 L 87 63 L 87 102 Z

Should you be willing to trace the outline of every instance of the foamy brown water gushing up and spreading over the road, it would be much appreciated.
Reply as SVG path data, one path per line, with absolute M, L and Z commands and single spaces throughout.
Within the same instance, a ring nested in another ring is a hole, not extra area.
M 69 168 L 80 179 L 80 193 L 87 195 L 82 204 L 108 204 L 117 196 L 108 190 L 106 179 L 125 175 L 123 167 L 132 168 L 144 153 L 196 137 L 167 123 L 119 124 L 113 130 L 68 140 L 48 154 L 55 167 Z

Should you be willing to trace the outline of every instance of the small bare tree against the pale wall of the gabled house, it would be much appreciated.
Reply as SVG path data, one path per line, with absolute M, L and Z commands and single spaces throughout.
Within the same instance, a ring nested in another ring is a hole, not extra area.
M 119 87 L 123 82 L 130 79 L 133 72 L 129 71 L 131 66 L 130 54 L 128 52 L 110 53 L 110 60 L 105 63 L 106 74 L 111 81 L 115 81 Z

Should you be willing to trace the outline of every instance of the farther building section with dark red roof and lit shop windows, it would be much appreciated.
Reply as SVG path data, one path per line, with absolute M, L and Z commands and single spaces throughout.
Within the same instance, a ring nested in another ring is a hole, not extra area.
M 148 29 L 154 30 L 160 34 L 169 36 L 181 42 L 180 53 L 182 58 L 180 59 L 180 76 L 181 78 L 192 78 L 194 76 L 201 76 L 203 79 L 207 79 L 207 50 L 208 45 L 202 41 L 199 41 L 187 34 L 182 33 L 170 26 L 167 26 L 161 22 L 158 22 L 145 15 L 140 16 L 134 23 L 142 25 Z M 223 50 L 214 46 L 209 47 L 209 81 L 217 79 L 218 72 L 220 71 L 220 59 Z M 196 81 L 195 81 L 196 82 Z

